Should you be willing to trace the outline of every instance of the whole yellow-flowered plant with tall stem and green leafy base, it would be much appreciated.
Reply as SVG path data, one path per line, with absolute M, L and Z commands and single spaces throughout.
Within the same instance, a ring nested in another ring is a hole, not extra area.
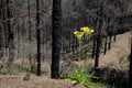
M 85 36 L 85 35 L 89 36 L 94 32 L 95 31 L 89 29 L 88 26 L 81 28 L 80 31 L 74 31 L 74 34 L 77 36 L 77 40 L 79 42 L 79 53 L 80 53 L 80 48 L 81 48 L 82 36 Z M 79 57 L 78 57 L 78 62 L 79 61 L 80 61 L 80 54 L 79 54 Z M 87 61 L 85 61 L 85 64 L 81 65 L 81 66 L 76 66 L 74 63 L 72 63 L 73 73 L 72 73 L 72 75 L 66 75 L 64 77 L 64 79 L 66 81 L 73 82 L 73 84 L 81 84 L 86 87 L 98 86 L 98 84 L 95 84 L 95 82 L 90 81 L 92 78 L 98 79 L 98 77 L 87 73 L 86 63 L 87 63 Z

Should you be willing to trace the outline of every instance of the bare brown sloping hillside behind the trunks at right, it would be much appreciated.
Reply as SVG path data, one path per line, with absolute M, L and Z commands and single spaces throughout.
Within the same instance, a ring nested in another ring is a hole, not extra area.
M 130 37 L 131 32 L 119 34 L 117 41 L 112 42 L 111 50 L 108 50 L 106 55 L 100 54 L 99 67 L 122 65 L 130 55 Z M 91 65 L 94 65 L 94 59 L 88 61 Z

